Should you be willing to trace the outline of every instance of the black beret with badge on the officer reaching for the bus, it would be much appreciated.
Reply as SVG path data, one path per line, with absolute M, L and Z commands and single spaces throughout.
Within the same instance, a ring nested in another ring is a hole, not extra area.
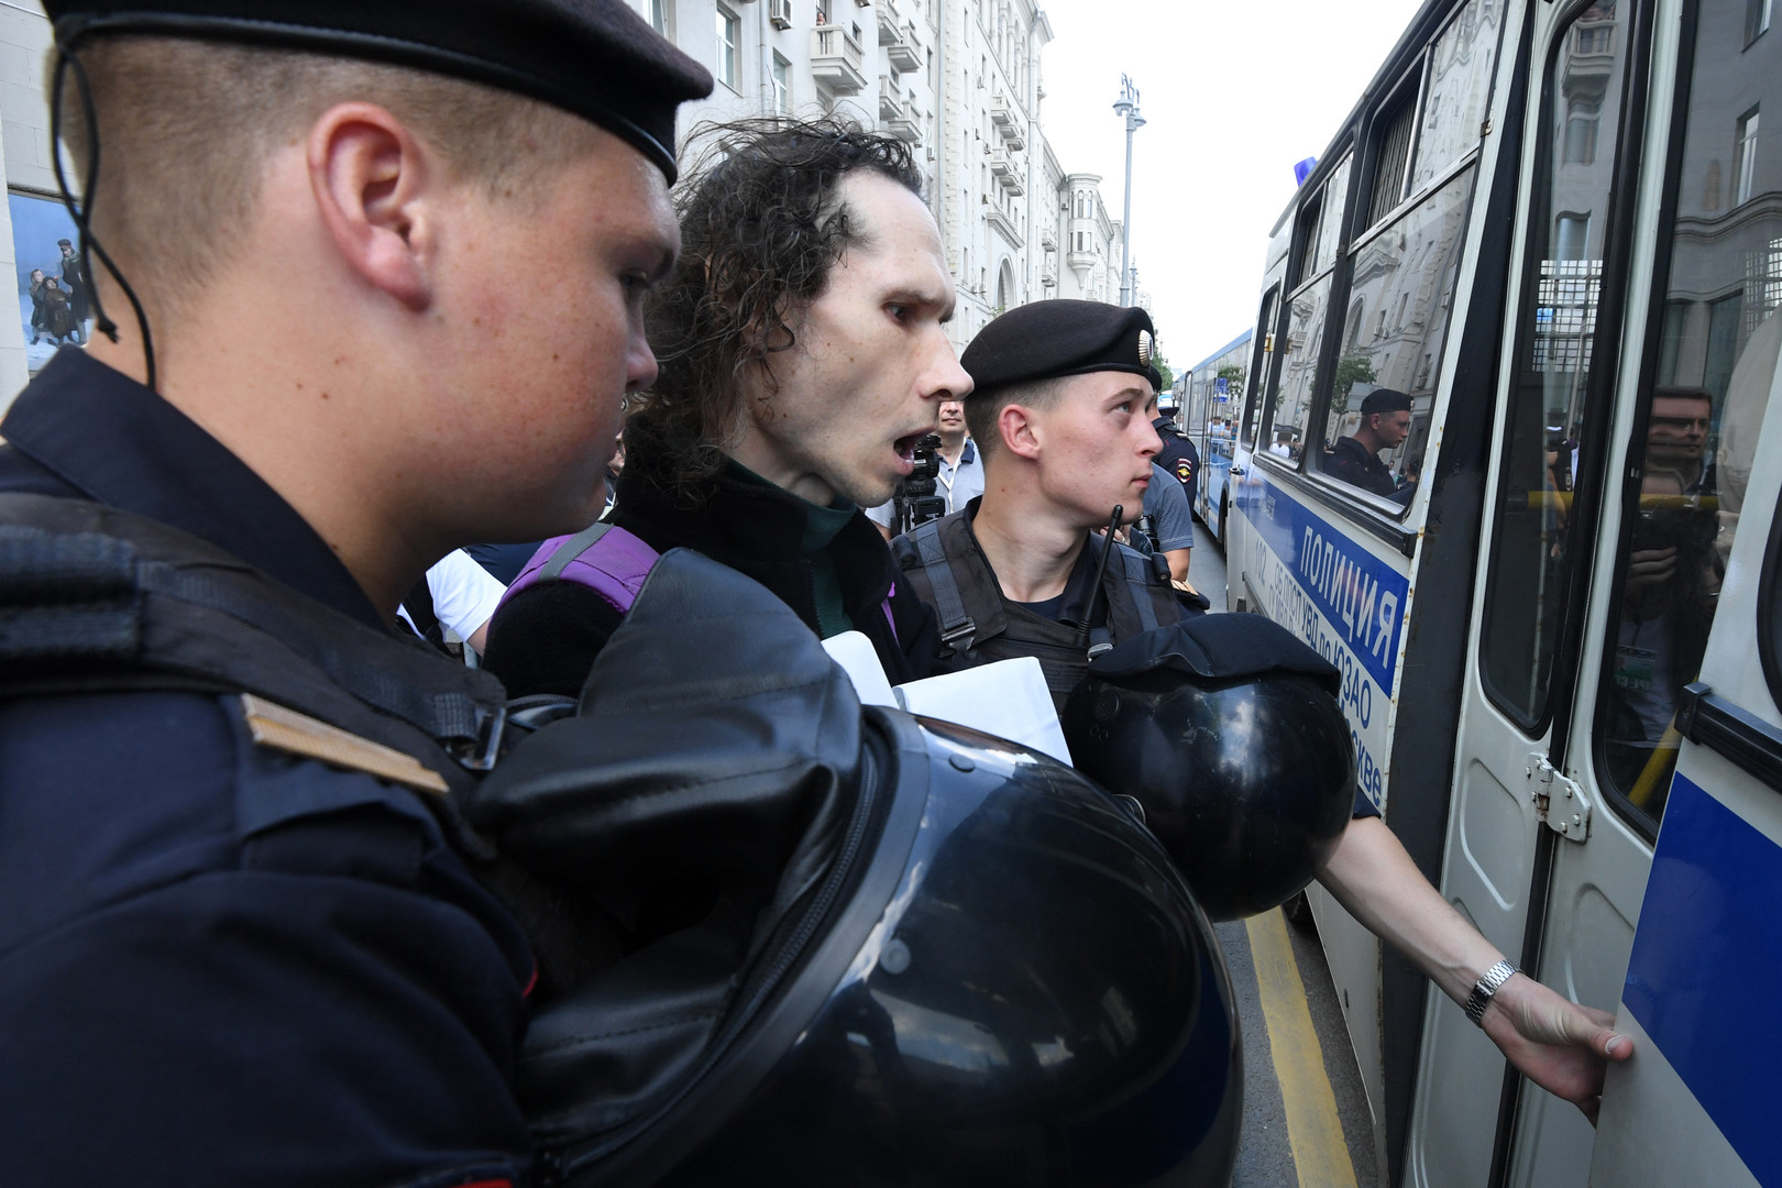
M 980 330 L 959 363 L 971 376 L 973 395 L 1098 370 L 1132 372 L 1162 388 L 1164 376 L 1151 365 L 1153 335 L 1151 315 L 1137 306 L 1034 301 Z

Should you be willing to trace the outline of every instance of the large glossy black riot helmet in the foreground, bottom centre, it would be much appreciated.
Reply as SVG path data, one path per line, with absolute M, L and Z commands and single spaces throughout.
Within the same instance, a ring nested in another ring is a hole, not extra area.
M 1231 987 L 1162 846 L 862 711 L 734 570 L 663 556 L 467 814 L 558 924 L 517 1072 L 547 1184 L 1230 1181 Z

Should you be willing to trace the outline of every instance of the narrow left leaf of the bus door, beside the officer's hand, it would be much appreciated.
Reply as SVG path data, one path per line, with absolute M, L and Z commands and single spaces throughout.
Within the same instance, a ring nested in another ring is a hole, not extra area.
M 1579 675 L 1597 654 L 1584 613 L 1606 568 L 1598 556 L 1613 557 L 1613 509 L 1611 531 L 1600 522 L 1616 433 L 1627 433 L 1616 390 L 1627 264 L 1639 246 L 1650 4 L 1574 0 L 1527 14 L 1520 276 L 1504 328 L 1442 891 L 1511 962 L 1609 1008 L 1650 851 L 1638 828 L 1604 812 L 1574 718 L 1588 718 L 1579 707 L 1597 686 Z M 1484 1033 L 1433 987 L 1411 1110 L 1408 1183 L 1586 1181 L 1590 1122 L 1524 1094 Z

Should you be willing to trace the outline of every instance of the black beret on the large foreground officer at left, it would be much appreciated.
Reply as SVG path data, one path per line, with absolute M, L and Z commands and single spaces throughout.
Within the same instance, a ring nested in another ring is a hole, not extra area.
M 590 119 L 675 178 L 675 105 L 711 75 L 624 0 L 45 0 L 55 43 L 96 34 L 244 41 L 517 91 Z

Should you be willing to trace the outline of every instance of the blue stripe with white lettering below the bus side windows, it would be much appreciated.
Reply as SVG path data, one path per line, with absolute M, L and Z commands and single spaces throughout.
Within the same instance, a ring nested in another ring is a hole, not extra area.
M 1294 579 L 1292 590 L 1272 591 L 1272 618 L 1326 655 L 1322 638 L 1335 634 L 1392 696 L 1410 602 L 1406 577 L 1267 479 L 1244 483 L 1233 499 Z M 1324 629 L 1313 611 L 1324 616 Z

